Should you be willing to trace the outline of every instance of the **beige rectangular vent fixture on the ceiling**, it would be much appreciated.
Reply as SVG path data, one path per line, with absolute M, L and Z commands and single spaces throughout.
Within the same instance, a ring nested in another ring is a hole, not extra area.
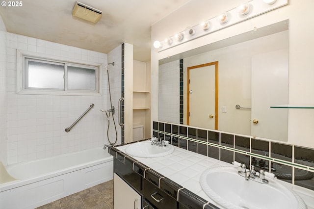
M 73 8 L 72 15 L 74 17 L 87 20 L 92 23 L 97 23 L 102 17 L 103 12 L 93 7 L 87 6 L 81 2 L 76 2 Z

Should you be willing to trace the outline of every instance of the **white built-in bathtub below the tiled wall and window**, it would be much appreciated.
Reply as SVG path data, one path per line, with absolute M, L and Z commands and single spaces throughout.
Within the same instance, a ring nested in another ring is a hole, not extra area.
M 17 180 L 0 183 L 0 209 L 34 209 L 112 180 L 113 157 L 99 147 L 8 165 L 6 171 Z

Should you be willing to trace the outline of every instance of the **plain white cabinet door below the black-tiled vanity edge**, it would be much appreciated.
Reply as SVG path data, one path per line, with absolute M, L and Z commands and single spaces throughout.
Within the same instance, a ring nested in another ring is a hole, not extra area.
M 113 174 L 114 209 L 141 209 L 142 198 L 128 183 Z

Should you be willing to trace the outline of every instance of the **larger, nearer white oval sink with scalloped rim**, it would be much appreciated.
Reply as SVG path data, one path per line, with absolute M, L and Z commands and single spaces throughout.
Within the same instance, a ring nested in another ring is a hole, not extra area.
M 239 167 L 215 167 L 200 178 L 204 192 L 227 209 L 306 209 L 303 200 L 280 180 L 268 184 L 246 181 L 237 174 Z

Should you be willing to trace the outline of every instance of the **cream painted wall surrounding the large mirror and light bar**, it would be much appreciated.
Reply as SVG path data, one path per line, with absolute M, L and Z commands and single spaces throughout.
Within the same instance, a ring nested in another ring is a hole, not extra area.
M 152 46 L 155 40 L 183 31 L 227 10 L 243 0 L 191 0 L 174 13 L 152 26 Z M 307 20 L 314 19 L 313 0 L 289 0 L 288 5 L 209 35 L 157 53 L 152 47 L 152 121 L 158 120 L 158 59 L 191 50 L 240 33 L 289 19 L 289 104 L 314 104 L 314 28 Z M 314 148 L 314 110 L 290 109 L 288 142 Z

